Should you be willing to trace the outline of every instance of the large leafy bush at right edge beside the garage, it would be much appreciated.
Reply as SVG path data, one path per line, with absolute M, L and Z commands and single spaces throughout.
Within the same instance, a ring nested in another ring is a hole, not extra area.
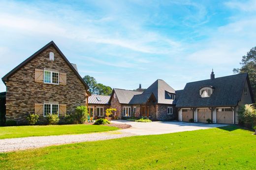
M 253 104 L 244 105 L 238 110 L 239 124 L 252 129 L 256 126 L 256 109 Z

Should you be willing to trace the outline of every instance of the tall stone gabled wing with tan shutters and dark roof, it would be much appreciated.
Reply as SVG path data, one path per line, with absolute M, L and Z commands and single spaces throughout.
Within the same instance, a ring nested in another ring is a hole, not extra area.
M 26 123 L 30 113 L 72 113 L 86 105 L 88 85 L 56 44 L 51 41 L 2 78 L 6 85 L 6 120 Z

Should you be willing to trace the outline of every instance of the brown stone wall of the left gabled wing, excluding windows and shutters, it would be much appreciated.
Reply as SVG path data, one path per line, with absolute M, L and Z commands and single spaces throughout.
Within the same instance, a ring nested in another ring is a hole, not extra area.
M 50 52 L 54 53 L 54 61 L 49 59 Z M 35 82 L 35 68 L 66 73 L 66 85 Z M 66 104 L 66 112 L 73 113 L 77 106 L 85 105 L 85 94 L 84 84 L 51 45 L 8 78 L 6 120 L 16 120 L 18 124 L 26 123 L 26 116 L 34 113 L 35 103 Z M 41 121 L 45 120 L 42 114 L 39 116 Z

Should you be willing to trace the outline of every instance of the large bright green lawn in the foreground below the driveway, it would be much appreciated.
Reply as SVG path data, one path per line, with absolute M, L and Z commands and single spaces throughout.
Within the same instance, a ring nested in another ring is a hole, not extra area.
M 256 136 L 237 126 L 0 154 L 7 169 L 256 169 Z

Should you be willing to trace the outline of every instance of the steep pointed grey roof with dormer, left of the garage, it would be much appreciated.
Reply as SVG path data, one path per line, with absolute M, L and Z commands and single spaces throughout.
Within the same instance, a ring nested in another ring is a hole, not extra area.
M 168 93 L 175 94 L 175 90 L 163 80 L 158 79 L 150 85 L 143 93 L 154 93 L 157 102 L 160 104 L 174 104 L 172 99 L 165 97 Z

